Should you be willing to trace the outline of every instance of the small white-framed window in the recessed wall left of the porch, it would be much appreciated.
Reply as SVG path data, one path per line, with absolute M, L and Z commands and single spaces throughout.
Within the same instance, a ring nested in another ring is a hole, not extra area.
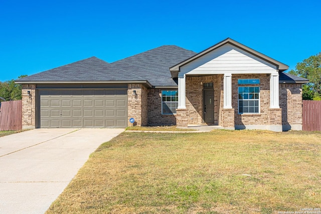
M 162 114 L 176 114 L 178 106 L 178 91 L 162 91 Z

